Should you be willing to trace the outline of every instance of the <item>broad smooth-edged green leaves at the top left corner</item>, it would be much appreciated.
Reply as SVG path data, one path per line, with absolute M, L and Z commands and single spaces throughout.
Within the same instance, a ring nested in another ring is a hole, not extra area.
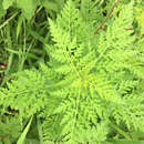
M 44 7 L 52 16 L 52 11 L 59 12 L 60 9 L 63 7 L 64 0 L 1 0 L 0 1 L 0 13 L 4 14 L 4 10 L 9 9 L 10 7 L 16 7 L 21 9 L 22 14 L 28 19 L 34 16 L 38 6 Z

